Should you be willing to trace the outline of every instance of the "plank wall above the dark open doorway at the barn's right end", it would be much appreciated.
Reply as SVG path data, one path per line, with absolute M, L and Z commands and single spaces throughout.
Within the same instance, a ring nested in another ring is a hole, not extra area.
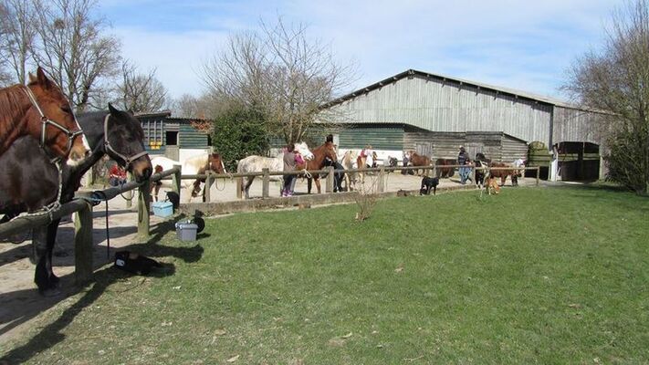
M 563 107 L 554 107 L 552 143 L 591 142 L 602 144 L 599 126 L 602 114 Z

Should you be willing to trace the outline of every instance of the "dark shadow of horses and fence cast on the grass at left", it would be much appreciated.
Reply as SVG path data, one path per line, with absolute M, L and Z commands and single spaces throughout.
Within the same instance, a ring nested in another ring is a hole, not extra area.
M 194 245 L 191 247 L 174 247 L 167 245 L 157 245 L 162 239 L 162 236 L 170 231 L 175 231 L 175 223 L 186 219 L 184 215 L 175 217 L 172 221 L 162 222 L 157 224 L 151 231 L 152 236 L 146 243 L 133 244 L 120 247 L 120 250 L 129 250 L 141 255 L 151 257 L 168 257 L 173 256 L 182 259 L 184 262 L 193 263 L 201 259 L 204 253 L 204 248 L 201 245 Z M 105 264 L 100 264 L 103 266 Z M 156 268 L 148 276 L 164 277 L 172 276 L 175 274 L 175 266 L 173 264 L 162 263 L 162 267 Z M 16 310 L 0 311 L 0 325 L 5 326 L 0 329 L 0 333 L 5 333 L 16 326 L 25 323 L 26 321 L 37 317 L 41 312 L 54 307 L 64 299 L 83 293 L 82 297 L 74 303 L 71 307 L 67 308 L 56 320 L 42 328 L 40 332 L 32 339 L 16 349 L 11 349 L 0 358 L 0 365 L 9 363 L 22 363 L 31 359 L 36 354 L 50 349 L 58 342 L 65 339 L 65 335 L 61 331 L 68 327 L 68 324 L 77 317 L 77 315 L 84 309 L 94 303 L 97 298 L 101 296 L 107 287 L 115 282 L 126 277 L 133 276 L 127 272 L 121 271 L 114 266 L 109 266 L 96 271 L 93 274 L 93 282 L 86 287 L 74 287 L 74 273 L 62 276 L 62 287 L 69 287 L 68 291 L 56 297 L 42 297 L 38 294 L 37 288 L 19 290 L 15 292 L 5 293 L 0 295 L 0 304 L 5 307 L 6 303 L 14 302 L 21 303 L 20 306 L 15 306 Z M 91 287 L 89 287 L 91 285 Z M 87 289 L 89 287 L 89 289 Z

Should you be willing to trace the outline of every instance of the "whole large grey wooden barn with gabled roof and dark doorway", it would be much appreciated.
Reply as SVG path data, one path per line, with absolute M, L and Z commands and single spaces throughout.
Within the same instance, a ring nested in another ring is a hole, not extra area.
M 327 105 L 344 126 L 335 141 L 340 150 L 372 145 L 401 158 L 414 150 L 436 158 L 456 158 L 459 146 L 481 151 L 494 161 L 529 158 L 529 143 L 544 146 L 531 164 L 559 169 L 550 178 L 589 180 L 602 176 L 598 114 L 564 101 L 409 69 Z M 553 150 L 554 147 L 554 150 Z

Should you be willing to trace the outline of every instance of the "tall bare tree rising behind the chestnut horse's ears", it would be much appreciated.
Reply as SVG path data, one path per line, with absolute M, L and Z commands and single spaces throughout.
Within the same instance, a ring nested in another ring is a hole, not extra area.
M 47 68 L 68 99 L 83 111 L 101 78 L 115 74 L 120 41 L 102 36 L 94 0 L 53 0 L 37 7 L 35 60 Z

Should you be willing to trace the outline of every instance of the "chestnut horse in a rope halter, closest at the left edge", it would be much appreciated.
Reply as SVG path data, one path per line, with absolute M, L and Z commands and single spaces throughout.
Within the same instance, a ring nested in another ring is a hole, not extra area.
M 29 79 L 26 87 L 0 89 L 0 155 L 19 137 L 31 135 L 50 159 L 79 163 L 90 148 L 68 99 L 42 68 Z

